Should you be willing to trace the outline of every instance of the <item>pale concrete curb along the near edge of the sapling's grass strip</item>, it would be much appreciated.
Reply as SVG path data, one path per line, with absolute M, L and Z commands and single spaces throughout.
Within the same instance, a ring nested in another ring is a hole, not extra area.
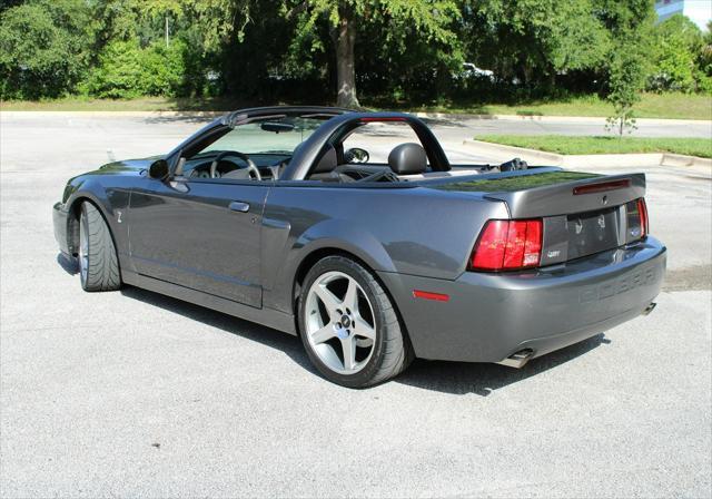
M 661 165 L 673 167 L 695 166 L 712 169 L 712 159 L 669 153 L 563 155 L 556 153 L 546 153 L 536 149 L 526 149 L 524 147 L 513 147 L 501 144 L 485 143 L 481 140 L 464 140 L 463 145 L 476 148 L 477 151 L 485 153 L 488 156 L 495 157 L 497 159 L 507 160 L 514 157 L 518 157 L 527 163 L 547 166 L 643 167 L 650 165 Z

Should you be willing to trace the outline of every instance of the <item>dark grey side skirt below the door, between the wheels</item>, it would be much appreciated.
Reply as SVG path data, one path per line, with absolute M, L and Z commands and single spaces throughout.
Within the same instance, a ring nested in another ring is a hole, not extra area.
M 234 315 L 246 321 L 256 322 L 285 333 L 294 334 L 295 336 L 297 334 L 294 315 L 291 314 L 273 309 L 255 309 L 254 306 L 243 305 L 209 293 L 190 290 L 188 287 L 179 286 L 154 277 L 147 277 L 146 275 L 130 271 L 121 272 L 121 278 L 123 283 L 131 286 L 154 291 L 174 299 L 182 300 L 184 302 L 212 309 L 228 315 Z

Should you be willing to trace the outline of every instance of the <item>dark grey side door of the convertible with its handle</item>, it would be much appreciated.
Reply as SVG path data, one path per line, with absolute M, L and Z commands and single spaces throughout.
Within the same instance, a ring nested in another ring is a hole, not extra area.
M 146 176 L 129 200 L 136 271 L 260 307 L 260 226 L 268 190 L 259 182 Z

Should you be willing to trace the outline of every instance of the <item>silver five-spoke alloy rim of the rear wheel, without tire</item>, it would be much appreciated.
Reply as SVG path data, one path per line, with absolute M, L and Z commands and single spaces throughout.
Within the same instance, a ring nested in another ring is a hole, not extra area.
M 320 275 L 307 294 L 306 335 L 319 360 L 339 374 L 355 374 L 374 353 L 376 321 L 360 285 L 332 271 Z

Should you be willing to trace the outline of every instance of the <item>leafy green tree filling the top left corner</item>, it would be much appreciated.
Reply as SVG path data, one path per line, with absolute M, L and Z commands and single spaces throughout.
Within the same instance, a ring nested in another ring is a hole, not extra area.
M 37 99 L 75 90 L 90 59 L 82 0 L 32 0 L 0 14 L 0 96 Z

